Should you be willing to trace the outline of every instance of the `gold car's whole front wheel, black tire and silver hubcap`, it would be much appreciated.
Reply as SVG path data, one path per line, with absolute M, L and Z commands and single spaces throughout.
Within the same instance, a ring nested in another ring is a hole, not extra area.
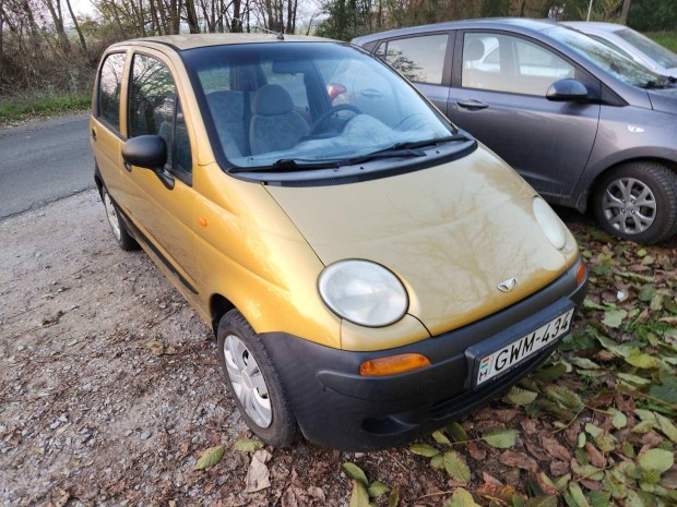
M 296 418 L 261 338 L 237 310 L 222 317 L 217 338 L 228 389 L 249 428 L 273 447 L 292 444 Z

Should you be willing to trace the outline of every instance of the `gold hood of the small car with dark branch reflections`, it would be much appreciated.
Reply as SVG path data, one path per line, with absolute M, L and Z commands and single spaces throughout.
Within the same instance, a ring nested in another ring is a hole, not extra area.
M 534 190 L 484 147 L 407 174 L 268 190 L 324 265 L 363 258 L 397 275 L 432 336 L 532 294 L 578 257 L 569 231 L 563 251 L 548 242 Z M 498 290 L 510 278 L 516 288 Z

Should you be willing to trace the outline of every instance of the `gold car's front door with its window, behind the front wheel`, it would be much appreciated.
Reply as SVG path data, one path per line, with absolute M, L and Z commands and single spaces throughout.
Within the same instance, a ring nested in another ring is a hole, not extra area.
M 158 176 L 124 166 L 121 205 L 146 244 L 192 293 L 194 193 L 190 125 L 170 62 L 153 50 L 134 51 L 127 94 L 127 135 L 158 135 L 167 164 Z

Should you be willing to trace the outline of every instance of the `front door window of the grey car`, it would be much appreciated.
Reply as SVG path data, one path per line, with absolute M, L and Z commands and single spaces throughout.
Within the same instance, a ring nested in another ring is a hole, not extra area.
M 520 37 L 468 33 L 463 39 L 461 85 L 466 88 L 543 97 L 555 81 L 574 73 L 553 51 Z

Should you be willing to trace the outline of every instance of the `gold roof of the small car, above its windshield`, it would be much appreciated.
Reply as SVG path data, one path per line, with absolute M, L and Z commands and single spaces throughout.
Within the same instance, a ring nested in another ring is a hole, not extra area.
M 332 39 L 311 37 L 304 35 L 284 35 L 284 39 L 277 34 L 185 34 L 162 35 L 157 37 L 143 37 L 118 43 L 115 46 L 149 46 L 159 44 L 170 46 L 177 51 L 203 48 L 209 46 L 224 46 L 235 44 L 261 44 L 261 43 L 330 43 Z

